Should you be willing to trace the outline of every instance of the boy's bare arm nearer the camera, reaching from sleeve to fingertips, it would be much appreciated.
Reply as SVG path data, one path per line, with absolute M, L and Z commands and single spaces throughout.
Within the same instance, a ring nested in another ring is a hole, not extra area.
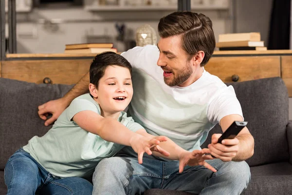
M 130 131 L 122 123 L 114 118 L 104 118 L 93 111 L 81 111 L 74 115 L 75 121 L 82 129 L 99 135 L 106 141 L 131 146 L 138 154 L 138 161 L 141 164 L 143 154 L 146 152 L 152 155 L 150 148 L 166 141 L 164 136 L 145 137 Z

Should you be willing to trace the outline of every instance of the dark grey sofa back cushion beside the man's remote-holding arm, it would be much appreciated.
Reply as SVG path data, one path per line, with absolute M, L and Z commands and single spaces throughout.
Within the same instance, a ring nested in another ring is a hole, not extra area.
M 227 84 L 230 85 L 230 84 Z M 247 128 L 255 138 L 254 156 L 247 160 L 250 166 L 288 161 L 289 150 L 286 125 L 289 121 L 289 98 L 281 78 L 264 78 L 232 83 L 241 104 Z M 213 133 L 221 133 L 217 124 L 202 144 L 211 142 Z

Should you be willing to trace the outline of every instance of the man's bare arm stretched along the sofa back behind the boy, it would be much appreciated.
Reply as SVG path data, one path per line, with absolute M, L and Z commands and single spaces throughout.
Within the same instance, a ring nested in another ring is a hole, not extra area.
M 74 87 L 63 98 L 48 101 L 38 106 L 38 116 L 46 120 L 45 126 L 48 126 L 55 122 L 55 120 L 62 114 L 62 112 L 70 105 L 72 100 L 82 94 L 88 92 L 88 85 L 90 82 L 89 72 L 84 75 Z M 53 116 L 47 119 L 48 114 Z

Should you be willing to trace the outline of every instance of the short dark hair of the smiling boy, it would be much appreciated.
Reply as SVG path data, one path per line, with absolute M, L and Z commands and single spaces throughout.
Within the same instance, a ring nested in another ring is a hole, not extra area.
M 105 75 L 106 68 L 117 65 L 128 68 L 132 77 L 132 66 L 123 56 L 114 52 L 104 52 L 95 56 L 89 69 L 90 83 L 98 88 L 100 78 Z

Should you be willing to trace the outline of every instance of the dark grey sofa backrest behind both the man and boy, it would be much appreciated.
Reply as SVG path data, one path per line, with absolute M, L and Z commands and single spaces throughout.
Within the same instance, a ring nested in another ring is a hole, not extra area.
M 255 154 L 247 160 L 248 164 L 288 161 L 288 92 L 283 80 L 265 78 L 232 85 L 255 138 Z M 44 120 L 37 116 L 37 106 L 64 96 L 72 87 L 0 78 L 0 170 L 30 138 L 43 136 L 52 127 L 44 126 Z M 211 130 L 204 146 L 216 132 L 221 132 L 219 125 Z

